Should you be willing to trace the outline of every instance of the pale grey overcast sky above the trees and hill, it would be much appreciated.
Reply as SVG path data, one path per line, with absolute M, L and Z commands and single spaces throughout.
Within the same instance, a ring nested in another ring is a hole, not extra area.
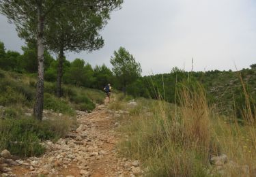
M 141 63 L 143 75 L 168 73 L 172 67 L 235 70 L 256 63 L 255 0 L 124 0 L 103 29 L 104 48 L 87 54 L 68 53 L 91 65 L 109 67 L 114 50 L 126 48 Z M 8 50 L 24 42 L 4 16 L 0 40 Z

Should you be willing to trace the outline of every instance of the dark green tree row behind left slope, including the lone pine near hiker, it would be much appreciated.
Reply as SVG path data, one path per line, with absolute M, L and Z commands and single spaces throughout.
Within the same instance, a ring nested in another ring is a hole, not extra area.
M 0 42 L 0 68 L 24 74 L 35 74 L 37 70 L 37 48 L 35 43 L 28 43 L 22 47 L 23 54 L 15 51 L 6 51 L 3 42 Z M 127 92 L 134 97 L 148 97 L 149 93 L 141 89 L 146 82 L 141 78 L 141 66 L 129 52 L 121 47 L 111 57 L 113 69 L 106 65 L 92 67 L 83 59 L 74 59 L 70 62 L 63 57 L 63 79 L 65 84 L 85 86 L 101 89 L 108 83 L 120 91 Z M 54 59 L 48 50 L 44 51 L 44 79 L 56 82 L 58 75 L 58 59 Z M 126 86 L 126 88 L 124 88 Z

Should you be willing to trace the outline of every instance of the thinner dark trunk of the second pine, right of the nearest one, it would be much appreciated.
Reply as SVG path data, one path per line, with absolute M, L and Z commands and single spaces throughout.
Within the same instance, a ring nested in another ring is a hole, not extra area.
M 63 48 L 59 51 L 59 65 L 57 74 L 57 97 L 61 97 L 61 78 L 63 76 Z

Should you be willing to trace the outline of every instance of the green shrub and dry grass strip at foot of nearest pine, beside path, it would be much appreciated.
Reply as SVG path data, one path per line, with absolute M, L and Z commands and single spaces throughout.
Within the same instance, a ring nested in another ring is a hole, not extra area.
M 42 120 L 34 118 L 0 119 L 0 150 L 8 149 L 20 157 L 39 156 L 44 152 L 42 140 L 57 140 L 76 125 L 70 118 Z

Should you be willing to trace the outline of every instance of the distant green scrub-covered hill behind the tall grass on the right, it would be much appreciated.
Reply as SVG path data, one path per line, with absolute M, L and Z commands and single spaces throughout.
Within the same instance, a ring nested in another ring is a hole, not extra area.
M 244 91 L 250 95 L 252 102 L 256 98 L 256 68 L 241 71 L 192 71 L 186 72 L 173 68 L 170 74 L 157 74 L 140 78 L 128 88 L 128 93 L 134 96 L 152 97 L 175 103 L 176 83 L 183 80 L 199 81 L 208 93 L 209 102 L 216 106 L 216 110 L 222 114 L 229 114 L 236 108 L 237 114 L 244 105 Z M 241 80 L 242 78 L 242 80 Z

